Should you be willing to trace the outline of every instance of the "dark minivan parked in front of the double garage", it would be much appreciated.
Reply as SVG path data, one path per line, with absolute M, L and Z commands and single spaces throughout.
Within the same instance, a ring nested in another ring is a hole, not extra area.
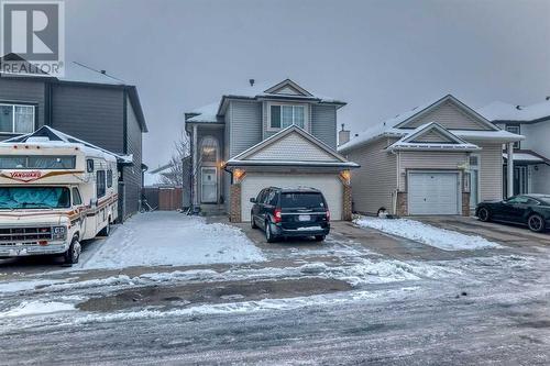
M 292 236 L 314 236 L 320 242 L 330 231 L 327 200 L 315 188 L 264 188 L 250 201 L 254 203 L 251 225 L 261 228 L 268 243 Z

